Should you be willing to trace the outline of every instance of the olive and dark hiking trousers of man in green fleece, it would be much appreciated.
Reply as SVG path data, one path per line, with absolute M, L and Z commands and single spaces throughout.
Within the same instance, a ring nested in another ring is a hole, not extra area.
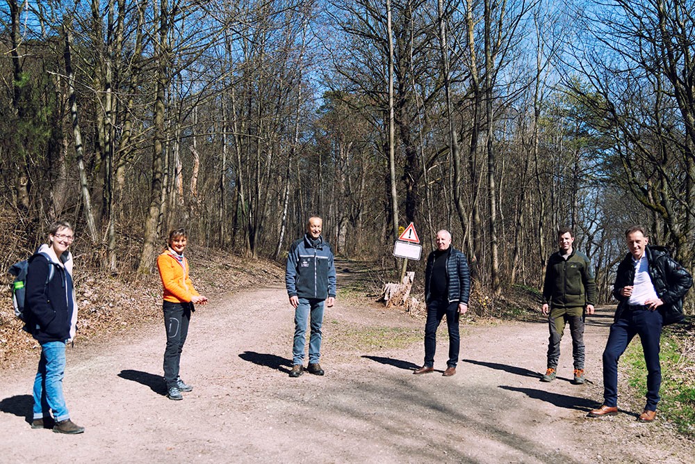
M 574 368 L 584 369 L 584 307 L 557 307 L 550 310 L 548 317 L 548 367 L 557 369 L 560 357 L 560 342 L 566 324 L 572 335 L 572 357 Z

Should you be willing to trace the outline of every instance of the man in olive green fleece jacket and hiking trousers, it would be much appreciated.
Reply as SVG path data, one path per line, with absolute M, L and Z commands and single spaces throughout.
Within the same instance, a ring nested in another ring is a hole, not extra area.
M 574 358 L 573 383 L 584 383 L 584 310 L 594 314 L 596 282 L 591 262 L 574 250 L 574 232 L 569 227 L 557 231 L 559 251 L 550 255 L 543 284 L 542 312 L 548 316 L 548 369 L 542 382 L 557 376 L 560 341 L 565 324 L 569 323 Z

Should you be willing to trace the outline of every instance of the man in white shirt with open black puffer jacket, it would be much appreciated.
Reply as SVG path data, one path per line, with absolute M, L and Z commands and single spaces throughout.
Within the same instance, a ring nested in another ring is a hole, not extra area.
M 589 417 L 618 413 L 618 360 L 630 340 L 639 335 L 647 367 L 647 394 L 638 420 L 653 422 L 660 399 L 661 330 L 664 323 L 682 319 L 682 298 L 693 281 L 668 250 L 647 246 L 643 227 L 630 227 L 625 236 L 630 253 L 619 264 L 613 286 L 619 304 L 603 351 L 603 405 L 591 410 Z

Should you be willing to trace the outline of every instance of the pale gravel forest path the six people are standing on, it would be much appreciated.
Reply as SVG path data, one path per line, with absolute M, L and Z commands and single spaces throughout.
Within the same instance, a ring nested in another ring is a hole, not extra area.
M 639 424 L 639 410 L 584 417 L 600 399 L 607 321 L 587 326 L 587 385 L 569 383 L 569 335 L 559 378 L 539 383 L 543 323 L 464 324 L 452 378 L 442 324 L 439 372 L 414 376 L 424 321 L 343 299 L 325 316 L 326 376 L 292 379 L 284 289 L 245 291 L 195 312 L 184 401 L 163 397 L 159 325 L 70 349 L 65 394 L 83 435 L 31 430 L 33 363 L 2 372 L 0 462 L 692 463 L 693 442 Z

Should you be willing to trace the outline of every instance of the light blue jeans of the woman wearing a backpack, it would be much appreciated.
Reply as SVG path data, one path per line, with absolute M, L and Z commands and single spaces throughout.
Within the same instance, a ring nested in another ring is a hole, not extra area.
M 34 379 L 34 419 L 50 417 L 56 421 L 70 419 L 63 397 L 65 376 L 65 342 L 46 342 L 41 345 L 41 358 Z

